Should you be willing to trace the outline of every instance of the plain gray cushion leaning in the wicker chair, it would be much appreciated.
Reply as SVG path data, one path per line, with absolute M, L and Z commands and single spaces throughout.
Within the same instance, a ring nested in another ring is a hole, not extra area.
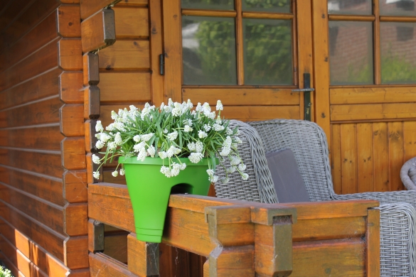
M 279 203 L 309 202 L 308 192 L 290 149 L 267 153 L 267 165 Z

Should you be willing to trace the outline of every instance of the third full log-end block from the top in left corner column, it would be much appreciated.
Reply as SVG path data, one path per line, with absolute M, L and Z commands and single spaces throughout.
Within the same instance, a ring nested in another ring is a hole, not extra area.
M 82 72 L 63 72 L 59 76 L 59 98 L 65 104 L 82 104 Z

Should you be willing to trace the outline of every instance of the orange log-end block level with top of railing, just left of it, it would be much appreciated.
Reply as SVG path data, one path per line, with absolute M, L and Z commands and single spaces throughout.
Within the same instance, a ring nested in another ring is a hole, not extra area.
M 70 203 L 87 202 L 87 171 L 70 170 L 63 173 L 63 197 Z

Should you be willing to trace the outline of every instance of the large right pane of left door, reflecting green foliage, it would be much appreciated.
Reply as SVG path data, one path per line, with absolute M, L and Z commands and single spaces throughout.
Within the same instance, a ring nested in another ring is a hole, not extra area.
M 244 18 L 246 85 L 292 85 L 292 21 Z

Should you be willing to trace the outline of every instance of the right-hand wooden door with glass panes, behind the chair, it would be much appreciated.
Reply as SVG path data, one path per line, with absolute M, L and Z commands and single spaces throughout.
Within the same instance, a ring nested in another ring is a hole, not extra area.
M 315 116 L 338 193 L 401 190 L 416 156 L 416 8 L 313 0 Z

